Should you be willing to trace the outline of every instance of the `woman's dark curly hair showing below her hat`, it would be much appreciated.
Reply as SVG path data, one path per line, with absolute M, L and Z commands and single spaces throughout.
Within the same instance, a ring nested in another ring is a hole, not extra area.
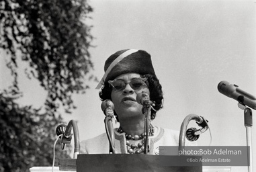
M 151 109 L 151 120 L 154 120 L 157 113 L 156 111 L 161 110 L 161 108 L 163 107 L 162 86 L 159 83 L 159 79 L 157 79 L 155 75 L 146 74 L 146 75 L 143 75 L 143 77 L 147 78 L 146 83 L 148 84 L 150 98 L 151 98 L 151 101 L 153 101 L 153 103 L 155 104 L 155 106 L 153 106 L 154 110 L 153 108 Z M 105 81 L 103 87 L 101 87 L 101 90 L 99 91 L 99 97 L 101 101 L 104 101 L 106 99 L 112 100 L 111 93 L 112 93 L 112 86 L 108 83 L 108 81 Z M 118 116 L 116 112 L 114 112 L 114 114 L 118 120 Z

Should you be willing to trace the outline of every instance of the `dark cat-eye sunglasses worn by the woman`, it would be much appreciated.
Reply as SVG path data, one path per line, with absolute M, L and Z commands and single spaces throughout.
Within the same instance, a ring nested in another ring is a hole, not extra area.
M 148 86 L 146 80 L 147 78 L 136 78 L 132 79 L 132 81 L 130 81 L 129 83 L 125 83 L 124 81 L 120 80 L 108 81 L 108 83 L 110 83 L 110 85 L 118 91 L 124 90 L 127 84 L 129 84 L 132 89 L 137 90 L 140 89 L 140 87 L 142 86 Z

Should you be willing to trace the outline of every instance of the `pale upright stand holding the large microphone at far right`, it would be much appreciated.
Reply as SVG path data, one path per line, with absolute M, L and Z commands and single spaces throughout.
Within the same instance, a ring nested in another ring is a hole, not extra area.
M 252 133 L 251 127 L 253 126 L 253 113 L 249 107 L 246 107 L 242 103 L 238 103 L 238 106 L 241 110 L 244 110 L 245 118 L 245 128 L 246 128 L 246 137 L 247 137 L 247 159 L 248 161 L 248 171 L 253 172 L 253 142 L 252 142 Z

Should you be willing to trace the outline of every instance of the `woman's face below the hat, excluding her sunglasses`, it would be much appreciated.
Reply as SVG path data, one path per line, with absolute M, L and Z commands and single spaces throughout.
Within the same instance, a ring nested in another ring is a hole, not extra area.
M 115 112 L 118 114 L 119 120 L 142 115 L 142 105 L 137 103 L 136 96 L 138 93 L 142 93 L 142 91 L 148 93 L 149 95 L 149 89 L 146 85 L 142 85 L 142 87 L 139 89 L 132 89 L 129 83 L 137 78 L 141 78 L 139 74 L 127 73 L 120 75 L 115 79 L 117 81 L 123 81 L 126 83 L 123 90 L 116 90 L 113 88 L 111 93 L 112 101 L 115 106 Z

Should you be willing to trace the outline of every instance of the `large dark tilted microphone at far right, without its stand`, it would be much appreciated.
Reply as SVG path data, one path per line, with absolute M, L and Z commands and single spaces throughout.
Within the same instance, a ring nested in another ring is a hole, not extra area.
M 221 81 L 218 84 L 218 91 L 232 99 L 239 101 L 239 103 L 247 105 L 256 110 L 256 98 L 242 89 L 239 89 L 239 86 L 228 83 L 227 81 Z

